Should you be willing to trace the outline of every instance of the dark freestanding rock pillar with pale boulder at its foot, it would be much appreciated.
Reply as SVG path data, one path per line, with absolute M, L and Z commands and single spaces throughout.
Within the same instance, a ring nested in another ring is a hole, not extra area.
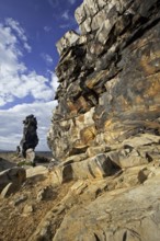
M 23 137 L 20 142 L 22 147 L 22 157 L 24 159 L 28 159 L 35 165 L 34 159 L 35 153 L 34 149 L 38 144 L 38 137 L 37 137 L 37 120 L 34 115 L 28 115 L 23 120 L 24 127 L 23 127 Z

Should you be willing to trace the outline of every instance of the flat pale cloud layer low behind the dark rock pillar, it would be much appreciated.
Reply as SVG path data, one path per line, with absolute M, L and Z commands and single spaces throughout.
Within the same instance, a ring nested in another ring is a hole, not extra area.
M 36 150 L 48 150 L 46 136 L 50 126 L 52 112 L 57 105 L 56 101 L 47 103 L 33 103 L 15 105 L 5 111 L 0 111 L 0 149 L 15 150 L 23 135 L 22 120 L 30 114 L 37 118 L 37 135 L 39 138 Z

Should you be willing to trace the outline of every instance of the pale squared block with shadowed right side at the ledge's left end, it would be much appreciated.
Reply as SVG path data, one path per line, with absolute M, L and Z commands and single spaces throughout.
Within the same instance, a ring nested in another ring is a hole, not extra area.
M 65 183 L 72 180 L 105 177 L 113 174 L 111 160 L 103 153 L 85 160 L 70 160 L 55 167 L 52 171 L 53 183 Z

